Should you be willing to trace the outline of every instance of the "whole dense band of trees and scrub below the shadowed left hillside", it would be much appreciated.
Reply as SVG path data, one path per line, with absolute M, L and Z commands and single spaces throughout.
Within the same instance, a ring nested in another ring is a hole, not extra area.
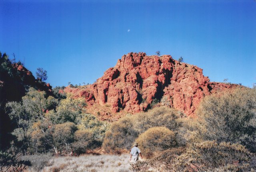
M 8 102 L 6 113 L 17 127 L 11 147 L 0 152 L 1 170 L 29 165 L 20 159 L 22 154 L 61 156 L 100 147 L 108 124 L 86 113 L 85 107 L 81 99 L 67 95 L 58 100 L 34 88 L 29 88 L 20 102 Z

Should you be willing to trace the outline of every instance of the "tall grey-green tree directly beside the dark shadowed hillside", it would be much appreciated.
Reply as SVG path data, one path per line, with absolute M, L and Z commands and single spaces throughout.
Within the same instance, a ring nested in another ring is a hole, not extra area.
M 24 143 L 24 149 L 28 147 L 29 132 L 32 123 L 45 120 L 45 109 L 56 106 L 56 100 L 49 96 L 46 99 L 45 92 L 39 92 L 30 88 L 22 102 L 8 102 L 6 110 L 12 120 L 16 122 L 17 128 L 14 134 Z

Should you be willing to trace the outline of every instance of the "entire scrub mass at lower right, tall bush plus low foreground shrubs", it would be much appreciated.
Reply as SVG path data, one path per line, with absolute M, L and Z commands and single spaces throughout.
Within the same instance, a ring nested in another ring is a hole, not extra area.
M 206 97 L 198 117 L 181 119 L 183 146 L 132 165 L 134 171 L 255 171 L 256 90 L 239 88 Z M 143 152 L 142 152 L 143 153 Z

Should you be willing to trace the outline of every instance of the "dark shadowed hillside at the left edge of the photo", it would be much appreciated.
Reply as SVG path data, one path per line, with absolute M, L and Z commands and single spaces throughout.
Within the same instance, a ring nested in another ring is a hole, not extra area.
M 6 114 L 6 103 L 19 102 L 30 87 L 53 95 L 50 84 L 39 82 L 22 63 L 12 63 L 8 59 L 8 55 L 0 52 L 0 148 L 8 145 L 9 139 L 12 137 L 10 132 L 15 127 Z

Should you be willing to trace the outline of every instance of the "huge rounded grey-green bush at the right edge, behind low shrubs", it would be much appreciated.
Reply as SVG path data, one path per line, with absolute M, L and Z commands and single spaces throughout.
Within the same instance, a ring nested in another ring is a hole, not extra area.
M 240 143 L 256 151 L 256 90 L 238 88 L 206 97 L 189 132 L 204 140 Z

